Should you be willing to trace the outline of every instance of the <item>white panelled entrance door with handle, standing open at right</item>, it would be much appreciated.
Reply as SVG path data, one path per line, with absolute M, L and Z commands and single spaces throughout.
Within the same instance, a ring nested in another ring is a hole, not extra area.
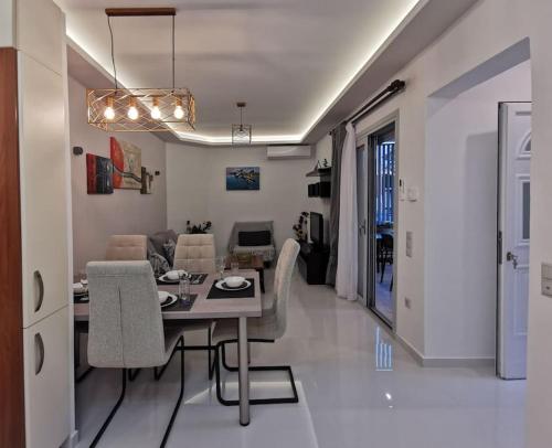
M 497 371 L 524 378 L 529 305 L 531 103 L 502 103 L 500 115 Z

